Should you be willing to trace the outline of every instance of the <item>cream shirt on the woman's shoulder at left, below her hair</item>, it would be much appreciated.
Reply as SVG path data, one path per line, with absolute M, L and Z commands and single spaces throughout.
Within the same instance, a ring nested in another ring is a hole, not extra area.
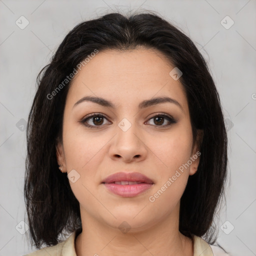
M 44 247 L 23 256 L 76 256 L 74 248 L 75 234 L 76 232 L 73 232 L 65 241 L 56 245 Z

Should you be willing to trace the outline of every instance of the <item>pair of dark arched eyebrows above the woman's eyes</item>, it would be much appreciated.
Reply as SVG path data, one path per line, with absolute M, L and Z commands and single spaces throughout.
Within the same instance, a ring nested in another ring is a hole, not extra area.
M 113 109 L 116 109 L 115 105 L 111 101 L 109 101 L 105 98 L 102 98 L 102 97 L 97 97 L 97 96 L 82 97 L 81 99 L 79 99 L 77 102 L 74 103 L 73 107 L 78 105 L 81 102 L 84 102 L 84 101 L 91 101 L 91 102 L 97 103 L 101 106 L 106 106 L 106 107 L 111 107 Z M 179 102 L 177 100 L 175 100 L 173 98 L 170 98 L 170 97 L 163 97 L 163 96 L 143 100 L 139 103 L 138 108 L 142 109 L 142 108 L 145 108 L 145 107 L 149 107 L 149 106 L 152 106 L 152 105 L 165 103 L 165 102 L 174 103 L 177 106 L 179 106 L 181 108 L 181 110 L 183 111 L 182 106 L 179 104 Z

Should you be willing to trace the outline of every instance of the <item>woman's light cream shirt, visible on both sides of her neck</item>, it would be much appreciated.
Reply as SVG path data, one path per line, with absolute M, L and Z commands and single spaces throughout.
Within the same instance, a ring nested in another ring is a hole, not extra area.
M 76 236 L 79 234 L 79 229 L 76 229 L 65 240 L 56 245 L 44 247 L 33 251 L 23 256 L 77 256 L 75 253 L 74 242 Z M 204 239 L 193 235 L 193 256 L 228 256 L 221 248 L 215 245 L 209 245 Z M 97 255 L 95 253 L 95 255 Z

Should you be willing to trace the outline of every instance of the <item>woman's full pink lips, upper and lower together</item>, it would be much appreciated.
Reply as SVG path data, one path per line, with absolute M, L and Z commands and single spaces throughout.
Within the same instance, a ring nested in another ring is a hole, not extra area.
M 139 184 L 115 184 L 115 181 L 138 181 Z M 106 188 L 114 194 L 123 197 L 132 197 L 149 189 L 153 181 L 139 172 L 117 172 L 102 181 Z

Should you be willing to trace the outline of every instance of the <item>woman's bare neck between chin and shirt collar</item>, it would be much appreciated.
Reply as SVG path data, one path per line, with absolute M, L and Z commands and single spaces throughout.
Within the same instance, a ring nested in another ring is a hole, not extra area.
M 75 240 L 77 256 L 193 256 L 193 241 L 178 231 L 172 212 L 153 225 L 127 232 L 99 222 L 81 209 L 82 232 Z

